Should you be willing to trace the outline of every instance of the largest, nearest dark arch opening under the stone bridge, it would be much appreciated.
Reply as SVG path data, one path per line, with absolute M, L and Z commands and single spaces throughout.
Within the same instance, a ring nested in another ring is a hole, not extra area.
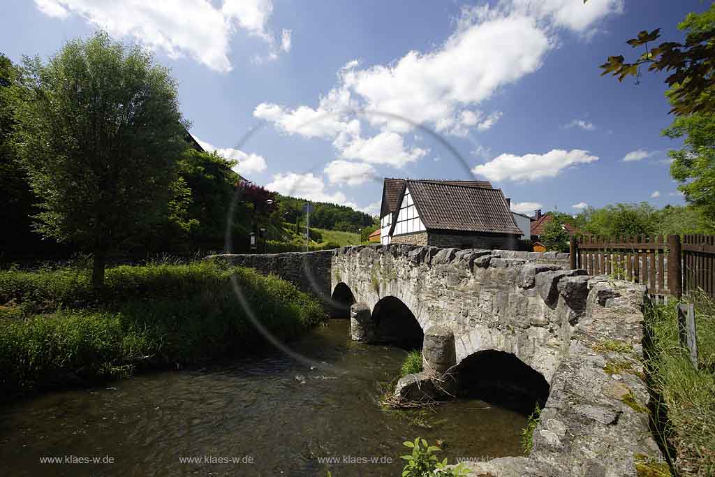
M 499 403 L 525 415 L 538 404 L 543 409 L 550 386 L 543 374 L 513 353 L 481 350 L 456 368 L 460 393 Z

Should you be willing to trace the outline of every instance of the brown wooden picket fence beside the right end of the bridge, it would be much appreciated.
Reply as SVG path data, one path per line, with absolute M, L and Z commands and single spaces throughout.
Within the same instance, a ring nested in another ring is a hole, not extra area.
M 570 249 L 571 268 L 643 283 L 651 296 L 715 296 L 715 235 L 581 235 Z

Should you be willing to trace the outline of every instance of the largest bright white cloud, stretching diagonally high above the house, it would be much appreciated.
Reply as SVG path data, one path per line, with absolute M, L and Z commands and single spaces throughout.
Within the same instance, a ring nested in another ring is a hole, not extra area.
M 461 133 L 460 127 L 477 124 L 471 106 L 536 71 L 550 48 L 533 19 L 486 8 L 478 15 L 465 13 L 456 31 L 434 51 L 409 51 L 393 64 L 345 70 L 342 87 L 368 111 Z M 482 128 L 488 129 L 500 115 L 488 115 Z M 371 115 L 370 122 L 395 132 L 413 128 L 410 122 L 380 114 Z

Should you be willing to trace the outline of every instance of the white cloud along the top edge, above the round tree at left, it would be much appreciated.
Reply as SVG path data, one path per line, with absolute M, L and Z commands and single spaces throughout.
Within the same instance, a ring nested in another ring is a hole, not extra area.
M 229 44 L 237 29 L 266 41 L 272 54 L 276 49 L 267 30 L 271 0 L 224 0 L 220 9 L 207 0 L 35 0 L 35 4 L 46 15 L 76 14 L 114 37 L 132 37 L 171 58 L 188 54 L 219 72 L 232 69 Z

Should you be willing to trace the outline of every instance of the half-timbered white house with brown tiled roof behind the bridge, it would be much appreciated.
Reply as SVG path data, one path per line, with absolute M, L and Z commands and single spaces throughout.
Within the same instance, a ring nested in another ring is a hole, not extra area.
M 490 182 L 385 179 L 380 242 L 515 250 L 523 234 Z

